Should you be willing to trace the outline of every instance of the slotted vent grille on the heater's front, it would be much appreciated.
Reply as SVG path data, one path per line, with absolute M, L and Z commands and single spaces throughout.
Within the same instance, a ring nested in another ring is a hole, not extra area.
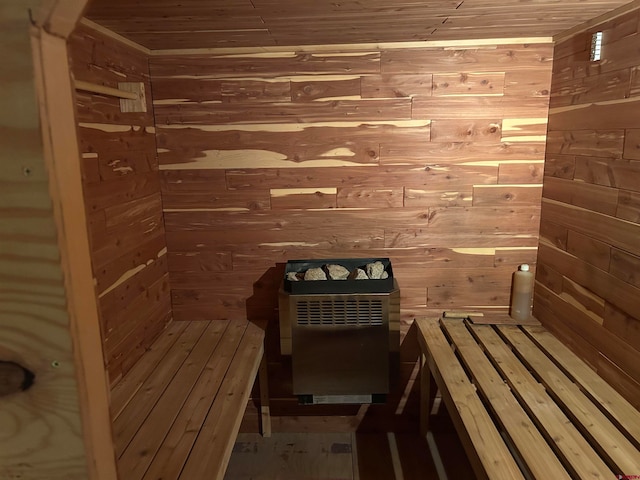
M 299 300 L 298 325 L 370 325 L 383 324 L 382 300 L 350 298 Z

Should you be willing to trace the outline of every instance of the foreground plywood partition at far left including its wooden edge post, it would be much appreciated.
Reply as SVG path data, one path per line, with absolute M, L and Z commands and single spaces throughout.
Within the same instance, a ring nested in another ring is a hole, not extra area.
M 0 13 L 0 478 L 112 480 L 66 50 L 86 0 L 39 3 Z

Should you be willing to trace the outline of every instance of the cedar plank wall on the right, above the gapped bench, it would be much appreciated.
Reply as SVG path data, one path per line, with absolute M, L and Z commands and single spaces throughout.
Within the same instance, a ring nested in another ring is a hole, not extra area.
M 534 311 L 640 407 L 640 10 L 555 49 Z M 604 31 L 603 60 L 589 61 Z M 602 102 L 602 103 L 594 103 Z

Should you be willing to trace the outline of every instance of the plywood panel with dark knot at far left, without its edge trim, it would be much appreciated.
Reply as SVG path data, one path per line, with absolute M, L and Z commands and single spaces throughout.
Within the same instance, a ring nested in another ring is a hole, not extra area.
M 35 7 L 38 2 L 31 3 Z M 0 476 L 86 478 L 77 371 L 39 131 L 27 8 L 3 11 L 0 22 L 8 67 L 0 74 L 0 98 L 10 108 L 0 130 L 7 162 L 0 194 L 5 213 L 0 226 L 0 354 L 36 376 L 33 388 L 2 398 Z M 24 101 L 16 103 L 17 96 Z M 25 165 L 28 175 L 21 173 Z M 59 368 L 52 367 L 53 361 Z

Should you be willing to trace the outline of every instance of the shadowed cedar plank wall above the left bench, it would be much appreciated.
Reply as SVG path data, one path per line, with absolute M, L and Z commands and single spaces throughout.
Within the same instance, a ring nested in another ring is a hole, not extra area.
M 80 26 L 70 39 L 77 80 L 144 82 L 147 55 Z M 171 318 L 153 110 L 122 113 L 114 97 L 77 91 L 88 228 L 104 354 L 113 385 Z

